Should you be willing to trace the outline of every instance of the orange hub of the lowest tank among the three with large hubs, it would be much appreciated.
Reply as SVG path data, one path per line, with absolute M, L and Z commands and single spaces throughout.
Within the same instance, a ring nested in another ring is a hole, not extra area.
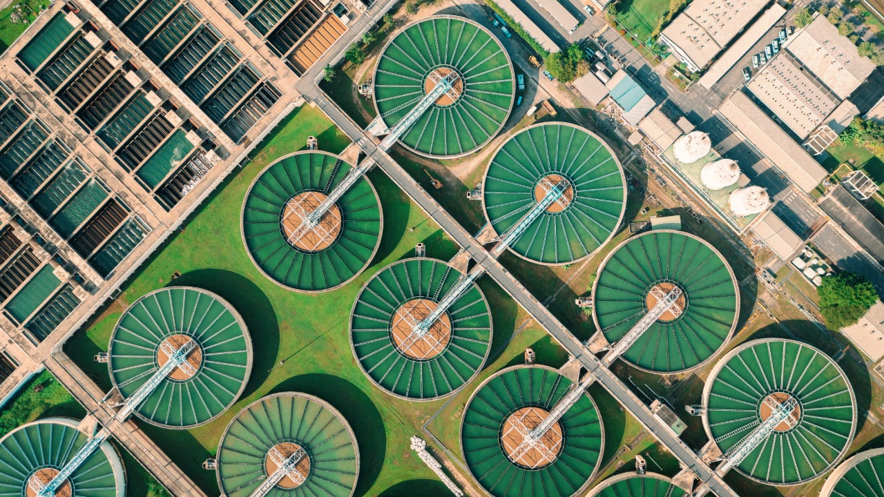
M 515 411 L 503 424 L 500 441 L 507 458 L 525 468 L 537 469 L 551 464 L 562 448 L 561 424 L 555 422 L 535 443 L 524 443 L 528 433 L 541 424 L 549 412 L 540 408 Z

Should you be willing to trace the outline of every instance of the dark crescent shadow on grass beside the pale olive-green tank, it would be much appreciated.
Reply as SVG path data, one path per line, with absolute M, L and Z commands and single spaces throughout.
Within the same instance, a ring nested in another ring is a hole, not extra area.
M 288 378 L 271 389 L 316 395 L 340 411 L 356 435 L 359 446 L 359 481 L 356 494 L 365 493 L 377 480 L 386 455 L 386 429 L 374 403 L 359 387 L 344 378 L 313 373 Z

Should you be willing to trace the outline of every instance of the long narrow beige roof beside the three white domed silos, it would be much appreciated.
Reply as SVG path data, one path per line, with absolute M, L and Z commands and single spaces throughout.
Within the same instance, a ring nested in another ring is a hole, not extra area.
M 742 92 L 730 96 L 719 111 L 804 192 L 826 178 L 826 170 Z

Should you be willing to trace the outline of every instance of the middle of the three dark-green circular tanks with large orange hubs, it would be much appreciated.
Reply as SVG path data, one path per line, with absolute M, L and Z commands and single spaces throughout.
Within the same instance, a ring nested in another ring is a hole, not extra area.
M 428 401 L 476 376 L 492 342 L 492 317 L 475 283 L 421 336 L 413 334 L 455 286 L 461 272 L 430 258 L 378 271 L 356 298 L 350 343 L 362 371 L 386 392 Z

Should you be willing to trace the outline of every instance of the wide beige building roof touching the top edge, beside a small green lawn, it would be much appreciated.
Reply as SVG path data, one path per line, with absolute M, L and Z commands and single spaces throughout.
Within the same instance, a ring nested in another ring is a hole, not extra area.
M 691 2 L 660 33 L 669 47 L 693 72 L 699 72 L 725 50 L 770 0 L 700 0 Z

